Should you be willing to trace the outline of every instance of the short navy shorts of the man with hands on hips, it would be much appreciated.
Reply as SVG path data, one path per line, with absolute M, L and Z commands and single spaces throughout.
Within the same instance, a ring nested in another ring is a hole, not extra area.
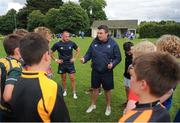
M 75 70 L 74 64 L 59 64 L 57 73 L 58 74 L 64 74 L 64 73 L 72 74 L 75 72 L 76 70 Z

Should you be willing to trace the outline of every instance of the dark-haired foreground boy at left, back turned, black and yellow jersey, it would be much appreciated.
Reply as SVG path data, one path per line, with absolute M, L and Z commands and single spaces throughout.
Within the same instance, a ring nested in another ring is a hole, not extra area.
M 10 103 L 15 121 L 69 122 L 62 89 L 45 73 L 51 62 L 47 40 L 29 33 L 21 40 L 20 52 L 27 71 L 18 79 Z

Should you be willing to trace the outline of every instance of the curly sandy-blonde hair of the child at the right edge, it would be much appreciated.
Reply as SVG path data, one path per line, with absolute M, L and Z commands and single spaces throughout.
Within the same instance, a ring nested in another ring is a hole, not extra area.
M 156 42 L 157 50 L 168 52 L 180 58 L 180 38 L 175 35 L 163 35 Z

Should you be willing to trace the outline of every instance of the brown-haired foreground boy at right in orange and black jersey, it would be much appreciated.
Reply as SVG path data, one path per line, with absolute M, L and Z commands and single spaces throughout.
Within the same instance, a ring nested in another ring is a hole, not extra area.
M 180 80 L 180 65 L 176 59 L 168 53 L 143 54 L 134 59 L 130 74 L 131 88 L 139 101 L 119 122 L 170 122 L 170 115 L 159 97 Z

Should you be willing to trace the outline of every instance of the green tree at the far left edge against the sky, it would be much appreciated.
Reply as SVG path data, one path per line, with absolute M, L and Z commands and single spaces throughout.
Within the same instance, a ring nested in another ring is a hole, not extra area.
M 7 35 L 16 28 L 16 10 L 11 9 L 6 15 L 0 17 L 0 33 Z

